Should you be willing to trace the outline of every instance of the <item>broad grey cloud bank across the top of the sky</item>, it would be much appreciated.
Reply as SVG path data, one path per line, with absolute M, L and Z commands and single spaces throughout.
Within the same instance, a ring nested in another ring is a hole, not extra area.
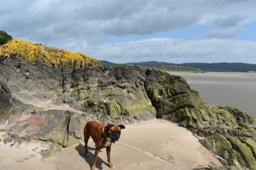
M 95 34 L 154 34 L 198 23 L 232 27 L 256 20 L 251 17 L 256 16 L 255 0 L 1 0 L 0 6 L 1 29 L 44 43 Z

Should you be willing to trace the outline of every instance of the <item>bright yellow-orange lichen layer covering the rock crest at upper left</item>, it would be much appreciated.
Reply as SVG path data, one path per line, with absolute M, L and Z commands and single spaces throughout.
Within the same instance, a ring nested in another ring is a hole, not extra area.
M 17 57 L 21 63 L 42 63 L 48 67 L 91 68 L 100 66 L 100 62 L 81 53 L 72 53 L 48 47 L 41 43 L 29 43 L 20 39 L 13 39 L 0 46 L 0 57 Z

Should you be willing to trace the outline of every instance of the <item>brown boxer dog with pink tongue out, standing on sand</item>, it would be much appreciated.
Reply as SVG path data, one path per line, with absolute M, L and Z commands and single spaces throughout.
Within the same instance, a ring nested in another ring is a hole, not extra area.
M 86 123 L 83 134 L 84 134 L 84 143 L 85 143 L 85 155 L 89 156 L 88 153 L 88 140 L 91 136 L 93 141 L 95 142 L 96 150 L 94 153 L 93 158 L 93 165 L 91 170 L 96 170 L 96 160 L 98 157 L 98 152 L 102 148 L 106 147 L 107 150 L 107 157 L 108 157 L 108 165 L 109 168 L 114 168 L 114 165 L 111 162 L 110 152 L 111 152 L 111 144 L 115 143 L 116 145 L 119 144 L 119 138 L 121 135 L 121 130 L 125 129 L 124 125 L 114 125 L 114 124 L 107 124 L 102 125 L 97 121 L 89 121 Z

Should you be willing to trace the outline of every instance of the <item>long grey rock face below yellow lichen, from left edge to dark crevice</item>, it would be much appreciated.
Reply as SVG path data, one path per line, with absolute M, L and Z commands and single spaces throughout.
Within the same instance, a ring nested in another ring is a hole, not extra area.
M 125 118 L 126 123 L 155 118 L 156 110 L 145 92 L 146 74 L 142 68 L 73 70 L 62 64 L 58 67 L 40 62 L 22 64 L 15 56 L 0 57 L 0 81 L 6 83 L 14 97 L 22 102 L 47 106 L 64 103 L 97 117 Z

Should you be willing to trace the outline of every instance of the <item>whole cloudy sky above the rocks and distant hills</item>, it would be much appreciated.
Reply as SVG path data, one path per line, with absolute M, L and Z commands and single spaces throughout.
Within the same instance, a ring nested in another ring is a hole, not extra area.
M 256 64 L 256 0 L 0 0 L 0 30 L 116 64 Z

